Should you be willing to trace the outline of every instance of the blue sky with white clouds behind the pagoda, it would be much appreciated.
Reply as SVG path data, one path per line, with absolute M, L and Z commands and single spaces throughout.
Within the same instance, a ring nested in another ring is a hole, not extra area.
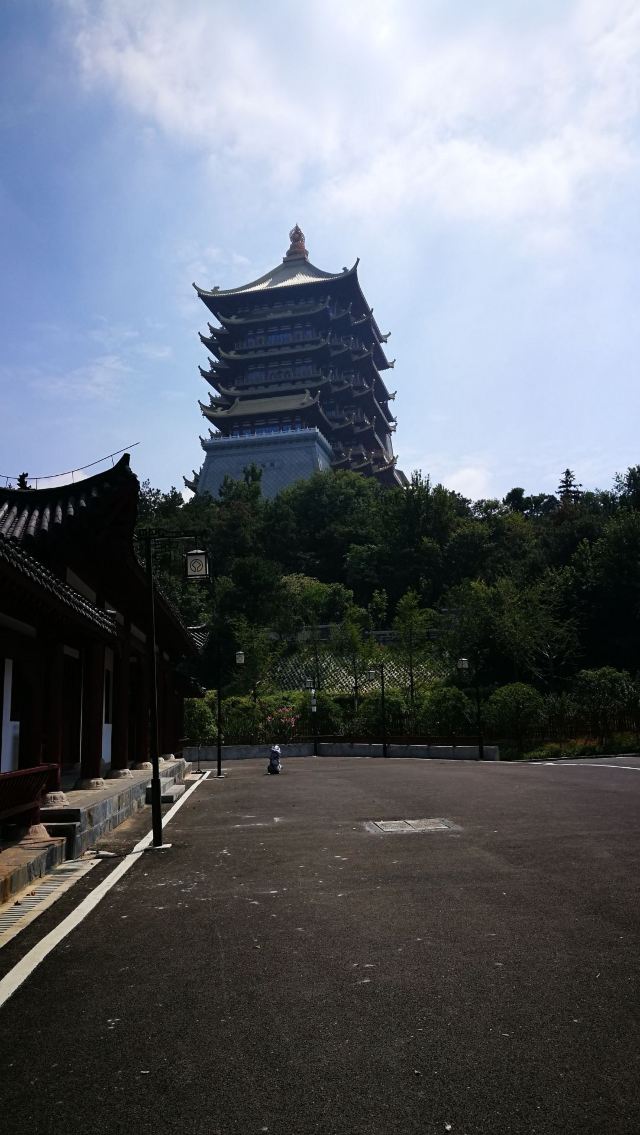
M 183 488 L 192 281 L 297 222 L 391 333 L 398 468 L 609 488 L 640 463 L 639 103 L 638 0 L 0 0 L 0 484 L 138 443 Z

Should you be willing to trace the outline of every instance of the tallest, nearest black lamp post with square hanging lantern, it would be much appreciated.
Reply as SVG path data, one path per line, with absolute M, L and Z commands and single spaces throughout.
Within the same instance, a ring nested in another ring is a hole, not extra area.
M 160 739 L 158 730 L 158 658 L 155 644 L 155 590 L 153 587 L 153 546 L 159 540 L 174 543 L 176 540 L 197 539 L 197 532 L 169 532 L 157 528 L 145 528 L 138 533 L 138 538 L 144 540 L 144 558 L 146 563 L 146 586 L 149 598 L 149 673 L 150 673 L 150 741 L 151 741 L 151 827 L 153 832 L 152 847 L 161 848 L 162 844 L 162 787 L 160 784 Z M 195 560 L 195 570 L 190 572 L 190 557 Z M 196 548 L 187 552 L 185 556 L 185 570 L 187 579 L 208 579 L 209 561 L 207 553 Z

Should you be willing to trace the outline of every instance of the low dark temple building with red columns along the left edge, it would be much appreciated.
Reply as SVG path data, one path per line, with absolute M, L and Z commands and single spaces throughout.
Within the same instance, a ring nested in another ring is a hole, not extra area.
M 6 777 L 14 791 L 45 764 L 56 790 L 146 767 L 154 693 L 161 754 L 182 747 L 197 644 L 154 588 L 154 691 L 138 493 L 128 454 L 75 485 L 0 489 L 0 823 Z

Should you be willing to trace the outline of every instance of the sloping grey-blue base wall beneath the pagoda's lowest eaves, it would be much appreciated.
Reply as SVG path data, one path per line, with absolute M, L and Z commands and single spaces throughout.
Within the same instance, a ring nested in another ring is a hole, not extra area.
M 273 497 L 280 489 L 313 473 L 331 468 L 331 446 L 319 429 L 258 437 L 219 437 L 203 443 L 204 464 L 197 479 L 197 495 L 217 497 L 225 477 L 242 480 L 247 465 L 262 470 L 262 495 Z

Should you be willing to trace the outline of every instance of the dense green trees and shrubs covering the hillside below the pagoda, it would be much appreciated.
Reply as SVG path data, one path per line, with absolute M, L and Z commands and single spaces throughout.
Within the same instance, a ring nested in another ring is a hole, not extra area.
M 396 666 L 389 697 L 403 699 L 415 728 L 436 720 L 461 728 L 474 718 L 479 690 L 486 722 L 521 740 L 541 716 L 557 724 L 595 714 L 603 737 L 618 711 L 634 713 L 640 466 L 617 474 L 610 489 L 582 491 L 567 469 L 556 494 L 514 488 L 503 501 L 477 502 L 419 473 L 406 489 L 382 489 L 344 472 L 264 501 L 251 468 L 243 481 L 227 480 L 218 499 L 185 503 L 177 490 L 146 484 L 140 523 L 201 533 L 211 582 L 187 585 L 171 545 L 158 556 L 161 585 L 187 623 L 213 631 L 203 683 L 217 686 L 221 657 L 225 688 L 254 706 L 270 692 L 275 658 L 295 644 L 320 687 L 330 650 L 352 717 L 374 714 L 360 705 L 363 675 L 385 658 Z M 233 664 L 238 647 L 242 673 Z M 460 657 L 469 659 L 465 671 Z M 599 679 L 584 676 L 591 671 Z

